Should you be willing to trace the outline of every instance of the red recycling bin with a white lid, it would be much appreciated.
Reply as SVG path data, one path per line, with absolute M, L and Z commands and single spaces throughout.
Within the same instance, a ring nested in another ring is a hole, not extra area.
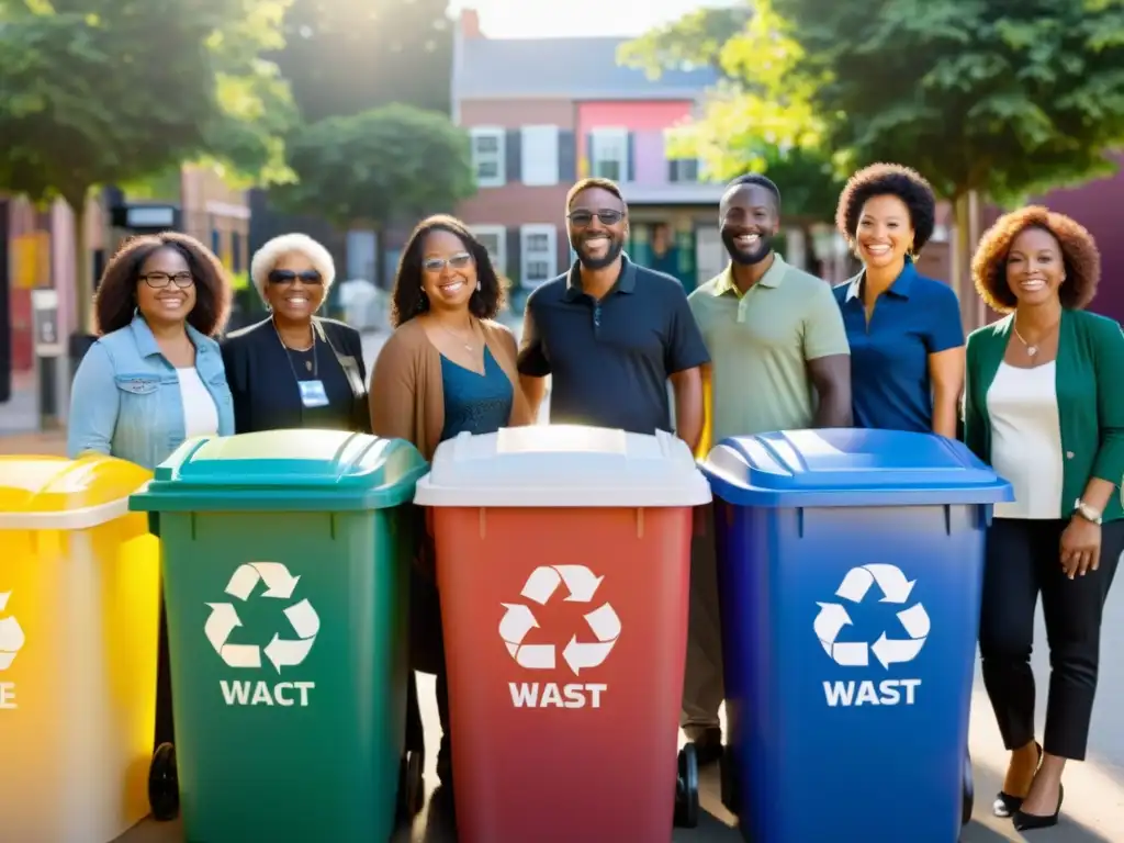
M 415 502 L 436 549 L 463 843 L 670 841 L 692 507 L 686 444 L 580 426 L 442 443 Z M 677 767 L 678 763 L 678 767 Z

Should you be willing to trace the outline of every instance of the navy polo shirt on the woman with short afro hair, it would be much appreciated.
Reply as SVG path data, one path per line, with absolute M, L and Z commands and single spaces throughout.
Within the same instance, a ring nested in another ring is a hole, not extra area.
M 948 284 L 918 274 L 913 262 L 874 302 L 862 305 L 865 273 L 834 288 L 851 344 L 855 427 L 933 429 L 928 355 L 964 344 L 960 302 Z

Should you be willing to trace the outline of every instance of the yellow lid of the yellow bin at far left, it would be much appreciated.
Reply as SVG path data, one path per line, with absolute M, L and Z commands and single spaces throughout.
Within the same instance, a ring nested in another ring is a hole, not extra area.
M 102 454 L 0 456 L 0 529 L 88 529 L 127 515 L 129 495 L 152 479 Z

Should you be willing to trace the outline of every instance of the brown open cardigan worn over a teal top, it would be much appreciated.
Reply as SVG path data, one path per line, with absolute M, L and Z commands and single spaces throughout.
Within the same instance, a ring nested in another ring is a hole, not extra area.
M 533 419 L 516 370 L 515 335 L 490 319 L 481 319 L 480 327 L 492 356 L 511 381 L 514 400 L 508 426 L 529 425 Z M 417 319 L 400 325 L 379 353 L 369 400 L 375 436 L 406 439 L 426 460 L 433 460 L 445 427 L 445 390 L 441 352 Z

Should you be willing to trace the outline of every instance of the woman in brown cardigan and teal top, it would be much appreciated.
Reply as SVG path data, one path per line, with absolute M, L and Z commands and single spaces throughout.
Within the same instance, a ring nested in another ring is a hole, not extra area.
M 395 279 L 391 324 L 371 375 L 371 420 L 379 436 L 404 438 L 432 460 L 460 433 L 531 423 L 519 389 L 516 343 L 495 321 L 504 300 L 488 250 L 459 219 L 429 217 L 414 229 Z M 451 785 L 448 690 L 433 547 L 424 543 L 410 584 L 413 667 L 437 678 L 437 776 Z M 422 720 L 410 683 L 407 749 L 420 751 Z

